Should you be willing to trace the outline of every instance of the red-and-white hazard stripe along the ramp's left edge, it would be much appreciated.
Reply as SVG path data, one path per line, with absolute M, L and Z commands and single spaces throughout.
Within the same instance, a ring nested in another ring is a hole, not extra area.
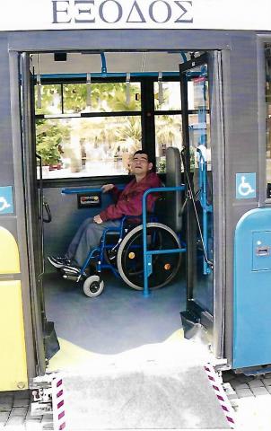
M 52 401 L 54 430 L 59 431 L 66 428 L 66 414 L 64 402 L 63 380 L 59 374 L 52 380 Z

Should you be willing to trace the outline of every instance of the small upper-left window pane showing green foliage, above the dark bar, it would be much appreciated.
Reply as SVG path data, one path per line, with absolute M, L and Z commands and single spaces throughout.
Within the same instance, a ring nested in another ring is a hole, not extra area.
M 40 92 L 40 104 L 39 104 Z M 61 113 L 61 85 L 35 85 L 36 114 Z

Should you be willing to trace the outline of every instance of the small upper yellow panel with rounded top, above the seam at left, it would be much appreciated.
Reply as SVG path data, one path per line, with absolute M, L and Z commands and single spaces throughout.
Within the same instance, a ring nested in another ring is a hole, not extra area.
M 0 274 L 18 272 L 20 272 L 20 260 L 17 243 L 12 233 L 0 226 Z

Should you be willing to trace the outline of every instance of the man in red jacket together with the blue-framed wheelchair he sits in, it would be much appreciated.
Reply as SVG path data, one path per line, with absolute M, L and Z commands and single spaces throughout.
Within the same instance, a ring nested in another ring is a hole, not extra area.
M 169 187 L 179 186 L 180 158 L 178 148 L 167 149 L 167 181 Z M 75 233 L 66 255 L 49 256 L 49 262 L 60 268 L 64 278 L 83 281 L 83 292 L 89 297 L 101 295 L 104 282 L 102 269 L 109 269 L 127 286 L 144 290 L 144 238 L 148 257 L 148 286 L 157 289 L 170 283 L 179 271 L 181 248 L 179 232 L 181 215 L 180 195 L 173 193 L 162 208 L 161 218 L 173 222 L 172 228 L 158 223 L 158 214 L 153 215 L 154 202 L 159 194 L 149 193 L 147 211 L 150 213 L 143 235 L 143 196 L 149 189 L 163 189 L 156 173 L 151 172 L 153 163 L 143 150 L 136 151 L 131 161 L 131 172 L 135 179 L 123 191 L 113 184 L 102 186 L 103 192 L 110 191 L 117 201 L 93 218 L 87 218 Z M 158 209 L 155 204 L 155 212 Z M 174 216 L 175 215 L 175 216 Z M 128 224 L 128 225 L 127 225 Z M 113 241 L 111 234 L 113 234 Z M 117 241 L 116 241 L 117 234 Z M 114 241 L 115 238 L 115 241 Z M 92 271 L 90 266 L 94 264 Z

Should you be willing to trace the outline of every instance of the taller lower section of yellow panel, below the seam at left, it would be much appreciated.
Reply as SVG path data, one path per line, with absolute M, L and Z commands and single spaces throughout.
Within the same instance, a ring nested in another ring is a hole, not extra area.
M 28 388 L 21 281 L 0 281 L 0 391 Z

